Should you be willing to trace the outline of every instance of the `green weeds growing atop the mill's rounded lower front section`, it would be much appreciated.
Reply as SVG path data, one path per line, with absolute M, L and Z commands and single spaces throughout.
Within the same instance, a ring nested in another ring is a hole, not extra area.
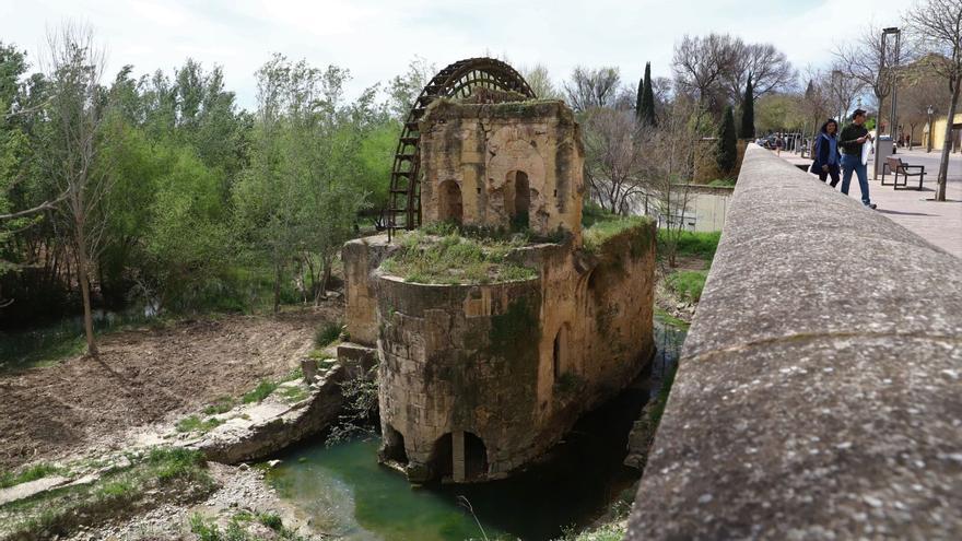
M 435 237 L 413 231 L 400 238 L 401 248 L 382 263 L 382 269 L 406 282 L 425 284 L 495 283 L 530 280 L 533 269 L 508 260 L 523 240 L 479 240 L 451 233 Z

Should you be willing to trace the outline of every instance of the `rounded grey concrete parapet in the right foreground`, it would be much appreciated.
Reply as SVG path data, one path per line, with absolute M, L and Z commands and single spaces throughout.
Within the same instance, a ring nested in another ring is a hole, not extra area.
M 627 539 L 959 539 L 960 273 L 751 145 Z

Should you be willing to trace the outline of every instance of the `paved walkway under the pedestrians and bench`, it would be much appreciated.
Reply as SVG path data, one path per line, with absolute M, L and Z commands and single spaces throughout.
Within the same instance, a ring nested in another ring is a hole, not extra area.
M 936 192 L 938 152 L 928 154 L 924 150 L 900 150 L 899 156 L 905 163 L 925 166 L 925 187 L 922 191 L 895 190 L 891 186 L 882 186 L 880 180 L 872 180 L 869 173 L 868 191 L 872 202 L 878 204 L 877 212 L 962 259 L 962 154 L 952 154 L 949 158 L 946 198 L 951 201 L 946 202 L 931 200 Z M 794 165 L 811 163 L 811 160 L 802 160 L 790 152 L 783 152 L 782 157 Z M 885 181 L 890 183 L 891 176 L 887 175 Z M 848 197 L 861 199 L 858 179 L 854 175 Z

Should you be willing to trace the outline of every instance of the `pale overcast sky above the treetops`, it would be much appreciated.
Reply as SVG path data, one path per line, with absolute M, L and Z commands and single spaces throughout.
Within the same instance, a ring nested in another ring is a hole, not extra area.
M 637 81 L 645 61 L 670 75 L 684 34 L 731 33 L 769 42 L 796 67 L 821 66 L 850 28 L 900 25 L 912 0 L 0 0 L 0 40 L 36 63 L 48 27 L 93 26 L 108 55 L 107 80 L 171 72 L 188 57 L 221 64 L 238 103 L 255 105 L 254 71 L 272 52 L 349 68 L 355 94 L 403 72 L 414 56 L 438 68 L 491 55 L 515 67 L 543 63 L 558 83 L 577 64 L 618 66 Z

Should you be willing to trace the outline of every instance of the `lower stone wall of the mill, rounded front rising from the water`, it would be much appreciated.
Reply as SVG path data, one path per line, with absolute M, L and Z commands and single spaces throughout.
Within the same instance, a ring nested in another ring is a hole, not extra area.
M 597 254 L 573 249 L 571 240 L 520 248 L 513 257 L 540 269 L 523 282 L 430 285 L 382 277 L 386 455 L 403 455 L 398 460 L 413 481 L 503 478 L 618 393 L 654 351 L 654 237 L 644 224 Z M 458 448 L 466 434 L 483 444 L 480 469 L 459 458 L 470 456 Z

